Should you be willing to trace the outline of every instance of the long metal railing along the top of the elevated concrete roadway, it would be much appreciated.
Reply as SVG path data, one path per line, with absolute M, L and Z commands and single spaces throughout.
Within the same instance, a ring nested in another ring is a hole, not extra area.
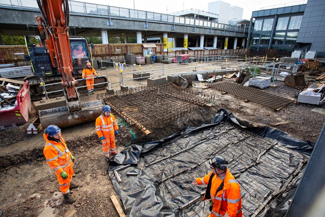
M 39 9 L 36 0 L 2 0 L 0 7 L 10 7 L 19 9 Z M 149 11 L 140 11 L 128 8 L 112 7 L 91 3 L 69 1 L 71 14 L 87 14 L 111 18 L 122 18 L 131 20 L 145 20 L 151 22 L 166 22 L 179 25 L 191 25 L 210 29 L 221 29 L 233 32 L 248 33 L 248 28 L 213 21 L 201 20 L 196 18 L 180 17 L 175 15 L 160 14 Z M 111 20 L 109 21 L 111 25 Z

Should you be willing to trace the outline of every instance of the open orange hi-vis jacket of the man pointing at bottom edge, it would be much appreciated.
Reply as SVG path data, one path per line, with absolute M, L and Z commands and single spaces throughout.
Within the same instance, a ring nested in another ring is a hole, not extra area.
M 203 178 L 197 178 L 198 184 L 208 184 L 212 171 Z M 223 189 L 219 192 L 216 191 L 219 188 L 222 180 L 214 175 L 212 177 L 210 196 L 213 201 L 212 211 L 210 216 L 227 216 L 227 217 L 241 217 L 242 213 L 242 198 L 240 195 L 240 187 L 238 181 L 230 173 L 229 169 L 226 170 L 223 182 Z M 208 190 L 206 193 L 209 192 Z M 206 195 L 203 200 L 206 200 Z

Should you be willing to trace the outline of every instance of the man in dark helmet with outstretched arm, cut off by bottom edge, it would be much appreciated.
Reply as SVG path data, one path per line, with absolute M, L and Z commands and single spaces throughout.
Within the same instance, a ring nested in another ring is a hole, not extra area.
M 230 173 L 222 157 L 209 160 L 211 172 L 202 178 L 196 178 L 192 184 L 207 184 L 203 200 L 210 200 L 209 216 L 243 216 L 242 198 L 238 181 Z

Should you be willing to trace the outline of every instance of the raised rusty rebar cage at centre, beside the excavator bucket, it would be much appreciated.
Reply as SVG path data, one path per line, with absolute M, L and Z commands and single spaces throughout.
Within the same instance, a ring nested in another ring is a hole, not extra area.
M 175 120 L 214 100 L 213 95 L 173 84 L 163 84 L 100 94 L 106 105 L 112 107 L 126 122 L 145 134 Z

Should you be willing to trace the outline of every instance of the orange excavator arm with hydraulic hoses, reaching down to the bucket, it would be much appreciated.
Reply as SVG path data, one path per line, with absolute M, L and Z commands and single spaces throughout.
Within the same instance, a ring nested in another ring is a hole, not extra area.
M 62 74 L 62 85 L 67 90 L 69 101 L 78 98 L 77 81 L 72 75 L 72 56 L 69 44 L 68 0 L 37 0 L 42 16 L 36 18 L 41 35 L 45 38 L 52 66 Z

